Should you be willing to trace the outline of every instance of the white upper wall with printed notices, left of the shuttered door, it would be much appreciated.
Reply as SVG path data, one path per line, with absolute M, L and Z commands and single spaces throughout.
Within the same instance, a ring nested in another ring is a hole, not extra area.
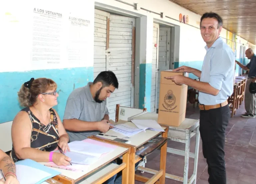
M 0 72 L 93 66 L 93 0 L 86 1 L 86 6 L 82 6 L 81 0 L 8 0 L 2 3 Z M 48 11 L 57 14 L 48 14 Z M 50 39 L 55 46 L 46 45 Z M 70 59 L 71 55 L 80 59 Z

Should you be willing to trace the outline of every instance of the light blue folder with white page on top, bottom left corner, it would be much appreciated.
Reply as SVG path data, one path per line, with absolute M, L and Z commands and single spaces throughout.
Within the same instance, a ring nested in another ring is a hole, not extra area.
M 15 163 L 16 175 L 20 184 L 39 184 L 43 181 L 61 174 L 60 172 L 46 167 L 30 159 Z M 36 174 L 33 174 L 36 173 Z M 1 179 L 0 175 L 0 179 Z

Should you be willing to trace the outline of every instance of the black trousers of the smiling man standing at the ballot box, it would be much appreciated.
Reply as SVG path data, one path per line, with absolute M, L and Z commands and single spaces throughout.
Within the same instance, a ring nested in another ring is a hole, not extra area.
M 208 164 L 210 184 L 226 184 L 224 160 L 225 131 L 230 118 L 228 105 L 200 110 L 200 134 L 203 155 Z

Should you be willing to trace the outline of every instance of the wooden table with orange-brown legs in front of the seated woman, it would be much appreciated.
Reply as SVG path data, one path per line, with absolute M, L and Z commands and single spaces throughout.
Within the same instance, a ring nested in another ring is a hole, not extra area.
M 99 141 L 104 142 L 104 140 Z M 118 172 L 122 171 L 122 183 L 128 184 L 128 166 L 131 146 L 122 147 L 120 145 L 117 145 L 115 142 L 110 144 L 115 144 L 117 148 L 115 148 L 112 152 L 107 153 L 105 156 L 102 156 L 96 163 L 90 165 L 89 168 L 86 169 L 86 171 L 70 171 L 51 167 L 52 169 L 61 172 L 60 175 L 53 177 L 53 179 L 63 184 L 101 184 Z M 121 165 L 111 163 L 111 161 L 115 160 L 120 156 L 123 156 L 123 163 Z M 43 162 L 40 163 L 43 164 Z M 44 182 L 44 184 L 46 183 L 51 183 L 51 179 Z

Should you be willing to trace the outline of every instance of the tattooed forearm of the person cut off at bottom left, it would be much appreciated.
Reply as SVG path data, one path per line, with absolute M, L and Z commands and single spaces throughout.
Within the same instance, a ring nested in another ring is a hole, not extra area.
M 13 160 L 0 149 L 0 169 L 3 170 L 6 181 L 2 178 L 0 184 L 19 184 L 16 177 L 16 166 Z M 0 175 L 1 177 L 1 175 Z

